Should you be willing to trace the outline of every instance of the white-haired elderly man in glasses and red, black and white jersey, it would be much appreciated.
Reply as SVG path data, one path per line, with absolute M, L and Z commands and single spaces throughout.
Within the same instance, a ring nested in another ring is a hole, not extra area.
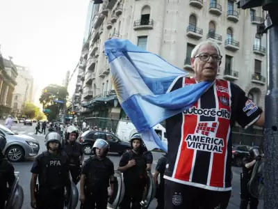
M 197 82 L 213 82 L 192 107 L 167 118 L 165 208 L 214 209 L 231 195 L 231 129 L 264 125 L 263 111 L 232 82 L 216 79 L 222 55 L 215 42 L 193 49 L 195 77 L 181 77 L 174 91 Z

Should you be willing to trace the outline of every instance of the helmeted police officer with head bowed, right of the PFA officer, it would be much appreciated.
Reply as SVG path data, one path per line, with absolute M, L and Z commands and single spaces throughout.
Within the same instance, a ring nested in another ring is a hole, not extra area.
M 106 157 L 109 150 L 106 141 L 97 139 L 92 149 L 95 155 L 85 160 L 81 170 L 80 201 L 84 209 L 106 209 L 108 196 L 114 190 L 114 164 Z

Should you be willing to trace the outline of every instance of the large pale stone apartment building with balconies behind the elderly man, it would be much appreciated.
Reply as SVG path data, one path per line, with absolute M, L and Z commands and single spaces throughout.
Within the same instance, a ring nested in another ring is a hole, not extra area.
M 213 40 L 223 56 L 218 77 L 238 84 L 250 100 L 263 107 L 266 38 L 256 34 L 256 26 L 264 16 L 261 8 L 240 10 L 231 0 L 111 0 L 100 4 L 79 64 L 83 70 L 81 112 L 84 116 L 87 110 L 90 116 L 124 117 L 104 55 L 108 38 L 129 39 L 190 74 L 195 45 Z

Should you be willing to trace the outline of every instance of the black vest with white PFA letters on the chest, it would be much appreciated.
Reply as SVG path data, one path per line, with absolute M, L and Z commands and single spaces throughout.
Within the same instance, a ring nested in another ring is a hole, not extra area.
M 48 151 L 42 153 L 40 166 L 42 167 L 39 176 L 40 188 L 58 189 L 65 187 L 69 179 L 67 171 L 67 155 L 61 152 L 58 155 L 51 155 Z

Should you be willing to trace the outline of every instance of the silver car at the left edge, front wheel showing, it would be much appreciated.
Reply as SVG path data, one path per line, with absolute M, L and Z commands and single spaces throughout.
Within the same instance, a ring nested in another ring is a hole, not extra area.
M 10 162 L 19 162 L 24 157 L 38 155 L 40 144 L 37 139 L 24 134 L 17 134 L 3 125 L 0 125 L 0 133 L 7 139 L 3 154 Z

